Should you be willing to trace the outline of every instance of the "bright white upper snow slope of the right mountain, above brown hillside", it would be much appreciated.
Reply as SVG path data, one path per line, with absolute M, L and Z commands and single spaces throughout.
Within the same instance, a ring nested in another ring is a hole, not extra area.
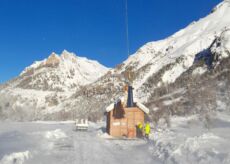
M 147 43 L 116 72 L 121 73 L 127 68 L 135 72 L 135 88 L 140 88 L 148 78 L 156 75 L 159 76 L 158 80 L 152 84 L 155 87 L 173 83 L 193 65 L 196 54 L 207 49 L 222 31 L 230 28 L 229 18 L 230 1 L 225 0 L 207 17 L 191 23 L 164 40 Z

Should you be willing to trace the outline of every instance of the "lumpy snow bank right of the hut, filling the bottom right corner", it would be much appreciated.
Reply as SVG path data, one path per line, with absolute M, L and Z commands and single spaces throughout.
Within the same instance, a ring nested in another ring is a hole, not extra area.
M 171 127 L 153 130 L 153 155 L 164 163 L 172 164 L 229 164 L 230 116 L 217 115 L 212 129 L 202 127 L 197 115 L 173 117 Z M 218 126 L 219 124 L 225 126 Z

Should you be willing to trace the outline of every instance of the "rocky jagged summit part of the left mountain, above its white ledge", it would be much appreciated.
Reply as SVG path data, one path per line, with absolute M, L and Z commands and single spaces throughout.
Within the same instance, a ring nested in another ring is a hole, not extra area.
M 10 85 L 46 91 L 76 90 L 96 81 L 107 71 L 108 68 L 97 61 L 64 50 L 60 56 L 53 52 L 47 59 L 34 62 Z

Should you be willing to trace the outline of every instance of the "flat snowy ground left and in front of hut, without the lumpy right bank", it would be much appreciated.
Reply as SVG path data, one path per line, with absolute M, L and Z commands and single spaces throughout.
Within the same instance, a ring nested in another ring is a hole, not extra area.
M 0 163 L 25 164 L 152 164 L 150 143 L 109 140 L 99 127 L 76 132 L 72 124 L 1 123 Z

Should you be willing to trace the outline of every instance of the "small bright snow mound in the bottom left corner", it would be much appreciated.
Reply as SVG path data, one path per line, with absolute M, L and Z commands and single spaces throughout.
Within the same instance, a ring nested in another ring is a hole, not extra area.
M 23 164 L 26 160 L 31 158 L 29 151 L 12 153 L 5 155 L 1 160 L 1 164 Z

